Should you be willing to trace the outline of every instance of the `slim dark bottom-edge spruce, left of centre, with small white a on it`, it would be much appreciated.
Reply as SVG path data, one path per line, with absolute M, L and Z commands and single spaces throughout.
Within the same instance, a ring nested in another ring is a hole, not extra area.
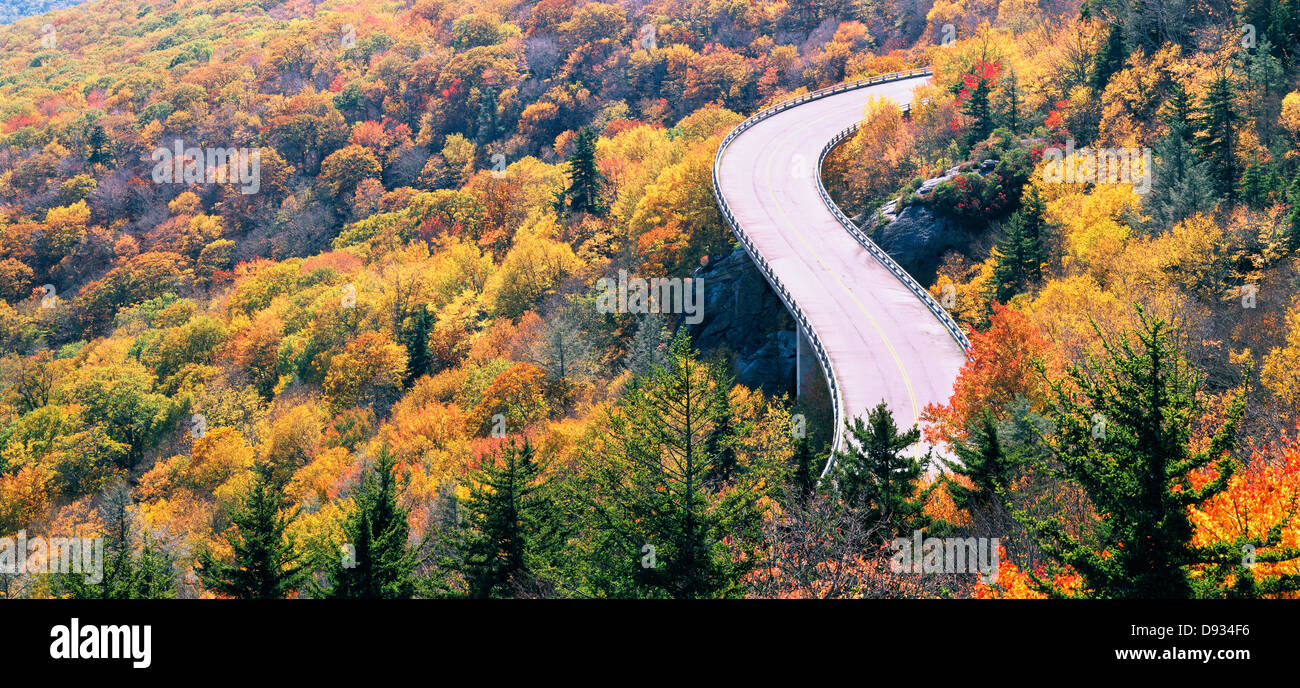
M 420 548 L 408 540 L 407 510 L 398 505 L 402 492 L 396 464 L 387 447 L 365 472 L 355 506 L 343 523 L 343 548 L 330 557 L 325 597 L 352 600 L 410 600 L 416 593 L 415 567 Z

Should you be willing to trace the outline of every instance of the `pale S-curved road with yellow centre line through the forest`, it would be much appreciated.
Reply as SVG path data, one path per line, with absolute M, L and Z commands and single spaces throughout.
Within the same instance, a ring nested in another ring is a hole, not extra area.
M 928 79 L 926 69 L 887 74 L 774 105 L 732 130 L 714 160 L 723 216 L 800 323 L 801 359 L 815 356 L 827 378 L 835 449 L 845 446 L 844 420 L 881 399 L 901 428 L 919 423 L 926 404 L 948 401 L 966 362 L 968 342 L 948 312 L 822 186 L 823 157 L 868 98 L 907 107 Z

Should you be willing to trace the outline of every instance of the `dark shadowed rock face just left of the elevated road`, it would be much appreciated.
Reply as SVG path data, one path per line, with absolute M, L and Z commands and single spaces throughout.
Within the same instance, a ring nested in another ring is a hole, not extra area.
M 701 351 L 734 359 L 736 381 L 794 395 L 797 325 L 744 248 L 696 271 L 705 281 L 703 320 L 688 325 Z

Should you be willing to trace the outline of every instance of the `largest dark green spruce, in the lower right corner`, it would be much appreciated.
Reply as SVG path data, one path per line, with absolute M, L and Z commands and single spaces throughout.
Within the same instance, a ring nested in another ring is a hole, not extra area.
M 1280 528 L 1265 542 L 1249 536 L 1193 545 L 1190 507 L 1222 493 L 1236 471 L 1232 455 L 1244 393 L 1234 397 L 1214 434 L 1200 442 L 1193 424 L 1205 415 L 1199 394 L 1202 375 L 1184 359 L 1170 325 L 1139 308 L 1134 336 L 1102 337 L 1104 355 L 1071 365 L 1066 377 L 1049 380 L 1045 437 L 1056 471 L 1076 483 L 1092 502 L 1097 520 L 1075 535 L 1058 518 L 1015 511 L 1043 553 L 1069 566 L 1083 581 L 1082 596 L 1110 598 L 1186 598 L 1277 592 L 1300 580 L 1256 580 L 1243 563 L 1247 545 L 1257 561 L 1300 555 L 1279 548 Z M 1040 372 L 1041 372 L 1040 367 Z M 1192 473 L 1213 468 L 1199 486 Z M 1226 583 L 1235 576 L 1236 583 Z M 1054 596 L 1050 581 L 1035 587 Z

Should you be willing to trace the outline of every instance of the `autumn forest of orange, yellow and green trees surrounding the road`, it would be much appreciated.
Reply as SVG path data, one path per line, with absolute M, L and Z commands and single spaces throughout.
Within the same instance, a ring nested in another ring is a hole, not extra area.
M 1126 7 L 92 0 L 0 27 L 0 536 L 108 551 L 103 581 L 0 596 L 1290 594 L 1300 1 Z M 601 284 L 734 248 L 711 174 L 746 116 L 927 65 L 826 178 L 867 221 L 959 228 L 924 286 L 972 360 L 818 481 L 824 401 L 736 385 Z M 1000 538 L 996 571 L 890 567 L 918 529 Z

